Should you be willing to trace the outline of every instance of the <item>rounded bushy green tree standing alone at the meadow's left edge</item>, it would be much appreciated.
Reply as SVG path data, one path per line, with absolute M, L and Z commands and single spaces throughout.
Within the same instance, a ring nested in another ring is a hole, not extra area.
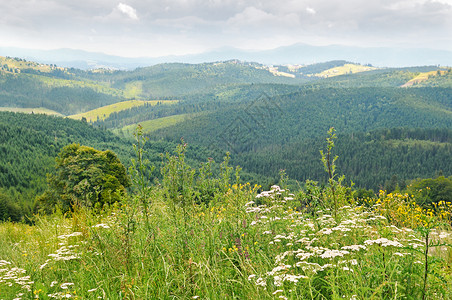
M 51 210 L 59 204 L 67 211 L 73 206 L 111 205 L 125 195 L 130 182 L 112 151 L 71 144 L 56 158 L 56 174 L 48 177 L 48 185 L 49 191 L 38 199 L 38 208 Z

